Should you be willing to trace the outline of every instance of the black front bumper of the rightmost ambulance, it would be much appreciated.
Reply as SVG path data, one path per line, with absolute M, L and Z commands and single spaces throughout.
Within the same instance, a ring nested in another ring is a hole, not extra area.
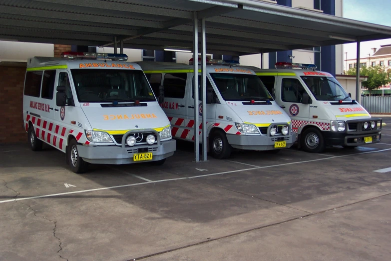
M 379 135 L 379 139 L 377 136 Z M 378 143 L 382 139 L 382 133 L 380 131 L 371 131 L 365 134 L 350 134 L 346 132 L 334 132 L 334 131 L 323 131 L 326 145 L 344 145 L 344 146 L 361 146 L 371 143 Z M 372 142 L 366 143 L 364 137 L 372 137 Z M 357 142 L 355 142 L 357 138 Z

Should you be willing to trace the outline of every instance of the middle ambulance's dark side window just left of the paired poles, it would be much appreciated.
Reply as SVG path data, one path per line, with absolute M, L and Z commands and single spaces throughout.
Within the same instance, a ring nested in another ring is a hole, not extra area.
M 166 73 L 164 75 L 164 96 L 167 98 L 184 98 L 187 73 Z

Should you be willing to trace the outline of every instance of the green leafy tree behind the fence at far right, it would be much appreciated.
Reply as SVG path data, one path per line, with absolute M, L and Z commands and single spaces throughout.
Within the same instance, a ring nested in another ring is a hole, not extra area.
M 348 75 L 356 75 L 356 68 L 350 68 L 347 71 Z M 360 68 L 360 75 L 367 76 L 368 79 L 362 82 L 363 87 L 367 88 L 370 92 L 379 88 L 382 85 L 386 85 L 391 81 L 390 73 L 386 71 L 384 66 L 363 66 Z

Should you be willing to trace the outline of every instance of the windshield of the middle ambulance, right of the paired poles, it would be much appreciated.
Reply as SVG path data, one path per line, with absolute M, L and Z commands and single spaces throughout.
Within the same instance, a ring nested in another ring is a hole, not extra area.
M 257 75 L 210 73 L 224 100 L 273 100 Z

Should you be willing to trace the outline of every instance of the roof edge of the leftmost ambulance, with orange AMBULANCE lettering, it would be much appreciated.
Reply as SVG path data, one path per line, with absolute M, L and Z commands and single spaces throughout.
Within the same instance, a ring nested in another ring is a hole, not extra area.
M 125 65 L 125 66 L 123 66 Z M 41 68 L 42 67 L 42 68 Z M 60 57 L 32 57 L 27 60 L 28 68 L 39 69 L 135 69 L 141 70 L 141 67 L 134 62 L 116 61 L 106 59 L 61 59 Z

